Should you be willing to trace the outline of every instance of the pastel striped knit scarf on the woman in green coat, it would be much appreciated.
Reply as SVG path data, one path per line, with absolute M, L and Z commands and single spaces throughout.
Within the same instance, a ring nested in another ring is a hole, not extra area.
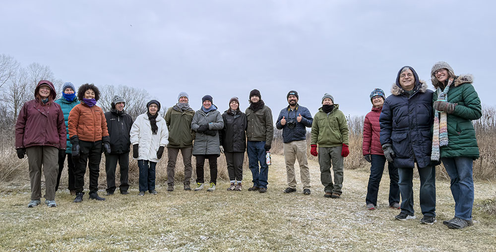
M 448 100 L 448 91 L 451 83 L 453 82 L 453 78 L 450 78 L 448 81 L 448 85 L 444 88 L 444 91 L 441 92 L 441 88 L 437 87 L 437 101 L 447 101 Z M 434 130 L 433 130 L 433 151 L 431 154 L 431 160 L 438 161 L 439 160 L 439 147 L 448 145 L 448 125 L 447 125 L 447 114 L 444 111 L 434 112 Z

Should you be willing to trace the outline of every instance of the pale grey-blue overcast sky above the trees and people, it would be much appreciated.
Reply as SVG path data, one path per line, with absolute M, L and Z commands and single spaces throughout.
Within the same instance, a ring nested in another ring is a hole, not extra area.
M 346 114 L 365 115 L 374 88 L 390 94 L 398 70 L 430 81 L 446 61 L 471 73 L 495 106 L 495 1 L 177 0 L 2 1 L 0 54 L 38 62 L 83 83 L 146 89 L 162 103 L 211 95 L 219 110 L 260 90 L 277 117 L 298 91 L 315 114 L 330 93 Z M 275 118 L 274 118 L 275 119 Z

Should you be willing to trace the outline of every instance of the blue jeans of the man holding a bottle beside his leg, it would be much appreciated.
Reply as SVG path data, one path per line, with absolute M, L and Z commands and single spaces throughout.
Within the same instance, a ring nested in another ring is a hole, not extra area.
M 265 163 L 265 141 L 248 141 L 247 153 L 253 186 L 267 189 L 269 166 Z M 258 162 L 260 162 L 260 167 Z

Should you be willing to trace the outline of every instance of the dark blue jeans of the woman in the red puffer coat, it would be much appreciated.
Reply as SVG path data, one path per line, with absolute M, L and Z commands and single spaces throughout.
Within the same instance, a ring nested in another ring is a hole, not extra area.
M 382 173 L 384 172 L 386 157 L 384 157 L 384 155 L 372 154 L 371 161 L 371 175 L 369 177 L 367 198 L 365 199 L 365 202 L 367 204 L 372 203 L 374 206 L 376 206 L 379 184 L 380 180 L 382 179 Z M 400 202 L 398 168 L 394 167 L 393 163 L 387 162 L 387 169 L 389 171 L 389 205 L 393 205 L 394 203 Z

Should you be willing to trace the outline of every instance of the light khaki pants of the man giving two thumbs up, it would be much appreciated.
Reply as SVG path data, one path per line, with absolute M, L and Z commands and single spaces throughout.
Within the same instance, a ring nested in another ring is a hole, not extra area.
M 300 178 L 303 189 L 310 188 L 310 169 L 307 160 L 307 140 L 284 144 L 284 160 L 288 175 L 288 187 L 296 189 L 295 161 L 300 165 Z

